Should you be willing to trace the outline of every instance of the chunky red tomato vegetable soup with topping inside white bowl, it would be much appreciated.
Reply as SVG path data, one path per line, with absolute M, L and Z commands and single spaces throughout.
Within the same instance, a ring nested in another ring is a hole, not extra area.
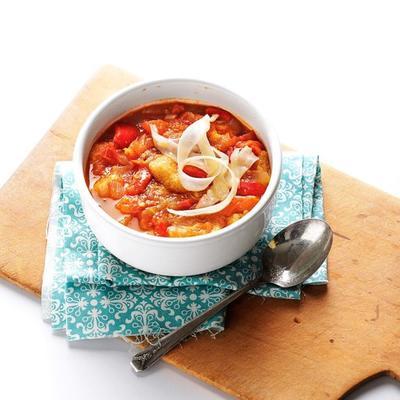
M 135 109 L 91 148 L 89 189 L 121 224 L 156 236 L 204 235 L 238 221 L 270 180 L 254 130 L 221 108 L 164 101 Z

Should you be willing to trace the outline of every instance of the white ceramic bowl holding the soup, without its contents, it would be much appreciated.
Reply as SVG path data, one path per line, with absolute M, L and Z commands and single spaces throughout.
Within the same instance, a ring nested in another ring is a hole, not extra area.
M 86 185 L 84 168 L 99 132 L 129 110 L 163 99 L 194 100 L 224 108 L 253 127 L 263 141 L 271 162 L 271 181 L 256 206 L 238 222 L 202 236 L 157 237 L 120 224 L 93 199 Z M 141 270 L 163 275 L 196 275 L 236 260 L 260 238 L 274 206 L 281 174 L 281 149 L 278 138 L 267 131 L 262 115 L 242 97 L 208 82 L 166 79 L 128 86 L 105 100 L 80 130 L 73 162 L 83 210 L 100 243 L 127 264 Z

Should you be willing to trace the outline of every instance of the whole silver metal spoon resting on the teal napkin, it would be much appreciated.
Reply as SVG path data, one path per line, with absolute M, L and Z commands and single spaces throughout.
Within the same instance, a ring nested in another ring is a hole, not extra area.
M 328 256 L 332 246 L 332 230 L 318 219 L 295 222 L 279 232 L 263 254 L 262 274 L 241 289 L 214 304 L 179 329 L 162 337 L 155 345 L 135 354 L 131 366 L 135 372 L 144 371 L 188 337 L 199 325 L 250 289 L 262 283 L 280 287 L 299 285 L 309 278 Z

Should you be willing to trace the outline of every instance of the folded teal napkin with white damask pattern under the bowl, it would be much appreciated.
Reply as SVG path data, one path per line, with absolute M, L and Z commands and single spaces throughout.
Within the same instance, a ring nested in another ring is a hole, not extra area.
M 323 218 L 318 157 L 287 153 L 269 226 L 256 246 L 226 267 L 196 276 L 169 277 L 133 268 L 110 254 L 86 223 L 71 162 L 58 162 L 47 229 L 43 317 L 69 340 L 159 336 L 197 316 L 261 269 L 265 244 L 287 225 Z M 162 260 L 160 260 L 162 262 Z M 326 284 L 327 264 L 305 284 Z M 252 294 L 299 299 L 301 288 L 263 285 Z M 198 330 L 224 329 L 224 312 Z

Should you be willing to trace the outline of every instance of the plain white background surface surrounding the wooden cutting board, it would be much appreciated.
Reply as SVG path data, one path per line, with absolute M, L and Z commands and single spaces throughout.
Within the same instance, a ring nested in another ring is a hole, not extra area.
M 399 21 L 400 3 L 383 0 L 1 2 L 0 184 L 112 63 L 228 86 L 282 142 L 399 196 Z M 0 338 L 1 398 L 228 398 L 165 365 L 135 377 L 119 340 L 69 346 L 3 282 Z M 400 399 L 400 385 L 381 379 L 356 398 Z

